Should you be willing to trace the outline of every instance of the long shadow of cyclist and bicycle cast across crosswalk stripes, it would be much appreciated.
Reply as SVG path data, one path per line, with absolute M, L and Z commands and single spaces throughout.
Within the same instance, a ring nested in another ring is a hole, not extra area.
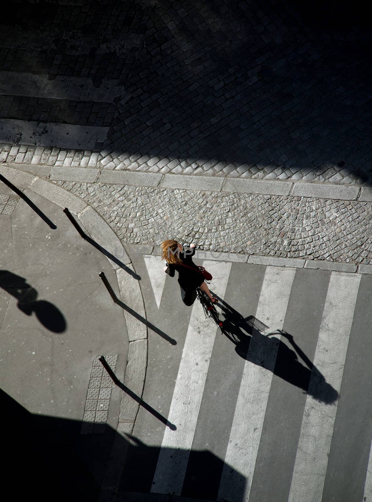
M 224 333 L 236 345 L 237 354 L 247 361 L 273 371 L 275 375 L 303 389 L 317 401 L 331 404 L 337 400 L 337 391 L 325 381 L 324 376 L 297 345 L 291 334 L 283 330 L 263 334 L 261 331 L 267 328 L 264 323 L 254 316 L 244 318 L 224 300 L 220 298 L 219 301 L 225 317 Z M 282 340 L 271 338 L 275 334 L 287 338 L 294 350 Z M 249 350 L 252 340 L 257 346 Z M 273 360 L 272 354 L 276 351 L 276 360 Z M 299 357 L 304 364 L 300 362 Z

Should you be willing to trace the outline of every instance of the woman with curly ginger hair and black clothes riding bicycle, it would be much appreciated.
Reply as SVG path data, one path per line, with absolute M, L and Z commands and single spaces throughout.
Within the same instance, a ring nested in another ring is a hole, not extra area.
M 175 270 L 178 272 L 178 284 L 185 305 L 188 307 L 193 305 L 197 297 L 197 288 L 204 291 L 212 303 L 218 302 L 204 282 L 200 269 L 192 260 L 195 255 L 195 244 L 190 244 L 190 247 L 182 247 L 176 240 L 168 239 L 161 243 L 161 247 L 163 250 L 161 259 L 167 262 L 163 270 L 170 277 L 174 277 Z

